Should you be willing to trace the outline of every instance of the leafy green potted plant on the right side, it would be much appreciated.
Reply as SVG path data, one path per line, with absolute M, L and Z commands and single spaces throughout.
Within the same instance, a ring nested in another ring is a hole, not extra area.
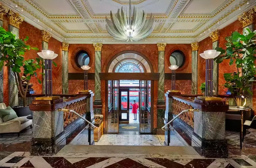
M 245 35 L 239 32 L 233 32 L 231 36 L 226 37 L 226 49 L 216 48 L 221 54 L 214 60 L 221 63 L 223 59 L 229 59 L 229 65 L 235 64 L 237 72 L 224 73 L 226 83 L 224 87 L 237 96 L 251 94 L 251 85 L 255 81 L 255 54 L 256 54 L 256 31 L 246 29 Z M 240 98 L 241 98 L 240 96 Z M 238 97 L 239 98 L 239 97 Z M 237 101 L 237 106 L 238 105 Z

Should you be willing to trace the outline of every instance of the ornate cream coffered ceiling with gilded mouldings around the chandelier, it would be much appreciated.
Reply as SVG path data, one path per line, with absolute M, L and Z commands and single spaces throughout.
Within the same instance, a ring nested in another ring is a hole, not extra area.
M 146 39 L 124 42 L 108 34 L 105 16 L 110 17 L 110 10 L 127 8 L 129 0 L 0 1 L 28 23 L 68 43 L 192 43 L 229 25 L 256 4 L 255 0 L 132 0 L 132 5 L 152 12 L 156 23 Z

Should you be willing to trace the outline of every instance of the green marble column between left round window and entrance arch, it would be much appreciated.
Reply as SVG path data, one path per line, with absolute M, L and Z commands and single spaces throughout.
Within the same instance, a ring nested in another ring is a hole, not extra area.
M 102 113 L 102 100 L 101 100 L 101 79 L 99 79 L 99 73 L 101 72 L 101 48 L 102 43 L 93 43 L 95 50 L 95 90 L 94 90 L 94 114 Z M 90 86 L 88 86 L 90 89 Z

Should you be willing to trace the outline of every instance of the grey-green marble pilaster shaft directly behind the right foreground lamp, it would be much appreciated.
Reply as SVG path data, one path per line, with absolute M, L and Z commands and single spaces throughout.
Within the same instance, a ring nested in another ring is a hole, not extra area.
M 215 49 L 216 47 L 219 47 L 219 41 L 214 41 L 212 43 L 212 49 Z M 213 62 L 213 87 L 212 89 L 215 90 L 214 95 L 218 95 L 218 85 L 219 85 L 219 64 L 216 63 L 216 61 Z

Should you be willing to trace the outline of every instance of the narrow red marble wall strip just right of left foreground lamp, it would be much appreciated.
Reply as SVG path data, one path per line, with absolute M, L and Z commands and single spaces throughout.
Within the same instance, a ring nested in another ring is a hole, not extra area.
M 57 67 L 52 65 L 52 93 L 62 93 L 62 45 L 61 42 L 51 37 L 48 43 L 48 49 L 54 51 L 58 56 L 53 60 Z

